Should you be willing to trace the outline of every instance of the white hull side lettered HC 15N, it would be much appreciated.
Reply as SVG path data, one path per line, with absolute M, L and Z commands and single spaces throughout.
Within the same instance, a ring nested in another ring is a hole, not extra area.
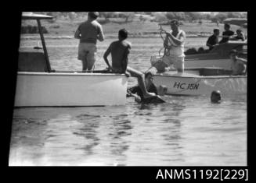
M 163 76 L 155 75 L 153 83 L 168 87 L 166 94 L 211 96 L 213 90 L 223 95 L 246 94 L 247 76 Z

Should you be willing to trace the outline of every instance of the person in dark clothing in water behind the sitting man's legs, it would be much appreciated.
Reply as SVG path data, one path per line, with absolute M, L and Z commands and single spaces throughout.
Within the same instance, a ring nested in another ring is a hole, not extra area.
M 146 90 L 155 93 L 157 95 L 157 87 L 153 84 L 153 73 L 152 72 L 146 72 L 145 73 L 145 84 L 146 84 Z M 128 93 L 136 94 L 133 95 L 135 97 L 135 101 L 138 103 L 145 101 L 143 97 L 142 90 L 139 86 L 133 86 L 132 88 L 128 89 Z

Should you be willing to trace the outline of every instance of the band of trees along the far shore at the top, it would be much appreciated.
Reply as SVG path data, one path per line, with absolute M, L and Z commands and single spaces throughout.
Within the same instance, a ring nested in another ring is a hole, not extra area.
M 39 12 L 45 15 L 53 16 L 58 19 L 63 16 L 66 19 L 76 19 L 84 17 L 87 12 Z M 247 12 L 99 12 L 99 17 L 110 21 L 111 18 L 122 18 L 125 22 L 132 21 L 139 15 L 141 21 L 149 19 L 162 22 L 170 19 L 178 19 L 193 22 L 200 19 L 209 19 L 213 23 L 222 23 L 227 18 L 247 18 Z M 147 17 L 146 17 L 147 16 Z

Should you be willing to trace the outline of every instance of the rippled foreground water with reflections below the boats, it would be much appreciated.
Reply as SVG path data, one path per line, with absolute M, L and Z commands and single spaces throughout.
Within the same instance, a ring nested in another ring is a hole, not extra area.
M 246 165 L 246 97 L 17 108 L 10 165 Z

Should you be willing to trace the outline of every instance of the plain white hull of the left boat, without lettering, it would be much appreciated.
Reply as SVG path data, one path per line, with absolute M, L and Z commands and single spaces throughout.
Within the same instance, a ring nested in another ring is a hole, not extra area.
M 124 105 L 121 74 L 18 72 L 15 107 Z

